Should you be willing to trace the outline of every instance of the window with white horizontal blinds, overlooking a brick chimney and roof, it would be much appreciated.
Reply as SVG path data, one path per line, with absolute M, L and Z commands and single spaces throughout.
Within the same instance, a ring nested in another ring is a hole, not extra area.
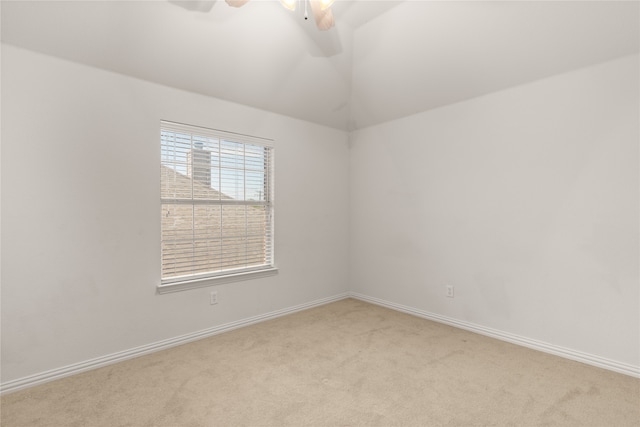
M 275 272 L 270 140 L 161 122 L 160 289 Z

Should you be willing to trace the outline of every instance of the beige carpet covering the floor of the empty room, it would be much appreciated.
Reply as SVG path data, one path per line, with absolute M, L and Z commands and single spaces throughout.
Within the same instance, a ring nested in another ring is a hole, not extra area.
M 348 299 L 2 397 L 2 426 L 638 426 L 640 380 Z

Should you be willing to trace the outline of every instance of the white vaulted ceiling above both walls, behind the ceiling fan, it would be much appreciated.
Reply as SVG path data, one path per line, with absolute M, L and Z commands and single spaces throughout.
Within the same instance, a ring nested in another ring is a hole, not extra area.
M 178 4 L 176 4 L 178 3 Z M 300 8 L 299 8 L 300 9 Z M 352 130 L 637 53 L 637 1 L 2 2 L 2 42 Z

